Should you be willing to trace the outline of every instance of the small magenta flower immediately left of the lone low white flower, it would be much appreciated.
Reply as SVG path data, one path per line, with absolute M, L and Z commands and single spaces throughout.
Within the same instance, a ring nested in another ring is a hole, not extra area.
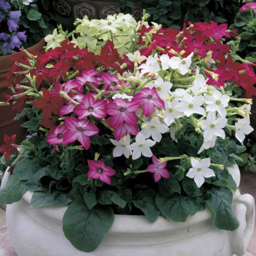
M 146 170 L 148 172 L 154 173 L 155 182 L 159 181 L 161 177 L 165 179 L 170 178 L 170 173 L 165 168 L 167 165 L 167 162 L 164 162 L 161 164 L 155 155 L 153 155 L 152 161 L 153 161 L 153 164 L 150 164 Z

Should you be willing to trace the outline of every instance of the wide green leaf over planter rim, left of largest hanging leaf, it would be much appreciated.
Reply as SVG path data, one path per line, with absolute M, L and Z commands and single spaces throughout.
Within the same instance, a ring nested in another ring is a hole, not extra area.
M 44 206 L 64 206 L 69 204 L 68 194 L 59 190 L 53 190 L 51 193 L 37 191 L 33 193 L 30 207 L 39 208 Z

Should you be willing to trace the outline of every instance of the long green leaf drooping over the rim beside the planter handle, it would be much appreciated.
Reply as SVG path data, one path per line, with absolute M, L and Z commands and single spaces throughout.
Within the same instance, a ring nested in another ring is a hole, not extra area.
M 239 222 L 231 210 L 233 193 L 225 187 L 215 187 L 206 191 L 206 205 L 214 214 L 214 226 L 223 230 L 235 230 Z

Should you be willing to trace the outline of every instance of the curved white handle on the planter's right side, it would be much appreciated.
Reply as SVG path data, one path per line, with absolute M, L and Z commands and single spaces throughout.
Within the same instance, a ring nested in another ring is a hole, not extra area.
M 243 256 L 253 236 L 255 224 L 254 198 L 249 194 L 234 197 L 233 212 L 240 225 L 236 230 L 230 232 L 232 251 L 237 256 Z

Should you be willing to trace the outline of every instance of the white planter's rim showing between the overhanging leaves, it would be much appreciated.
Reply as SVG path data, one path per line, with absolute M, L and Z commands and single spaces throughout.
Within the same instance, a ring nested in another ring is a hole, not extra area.
M 31 191 L 27 191 L 23 195 L 23 200 L 26 201 L 27 204 L 30 204 L 32 196 L 33 193 Z M 45 215 L 46 218 L 52 218 L 62 222 L 63 215 L 65 214 L 67 208 L 67 206 L 45 206 L 37 210 L 40 210 L 40 213 Z M 110 233 L 112 231 L 114 233 L 119 234 L 148 234 L 152 233 L 153 230 L 154 233 L 170 233 L 170 231 L 175 231 L 177 229 L 184 230 L 187 229 L 188 227 L 196 226 L 202 222 L 211 222 L 212 218 L 213 214 L 207 208 L 204 211 L 197 212 L 193 216 L 189 216 L 186 222 L 174 222 L 159 216 L 154 223 L 150 223 L 144 215 L 115 214 L 114 223 L 110 229 Z M 132 227 L 130 226 L 131 222 L 133 223 Z

